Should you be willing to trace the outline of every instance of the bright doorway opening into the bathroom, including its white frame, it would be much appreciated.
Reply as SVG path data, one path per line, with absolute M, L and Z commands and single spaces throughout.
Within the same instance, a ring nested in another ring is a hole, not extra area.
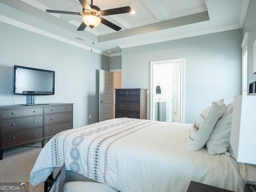
M 184 122 L 184 58 L 150 62 L 150 120 Z

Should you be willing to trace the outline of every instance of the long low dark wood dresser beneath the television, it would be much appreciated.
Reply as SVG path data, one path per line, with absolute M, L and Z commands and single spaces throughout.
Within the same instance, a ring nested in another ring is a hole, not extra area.
M 0 106 L 0 160 L 5 148 L 42 141 L 73 128 L 73 104 Z

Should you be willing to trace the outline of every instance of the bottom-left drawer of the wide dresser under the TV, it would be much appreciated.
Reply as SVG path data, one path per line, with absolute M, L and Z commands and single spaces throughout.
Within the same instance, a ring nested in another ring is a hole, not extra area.
M 32 141 L 43 137 L 43 128 L 35 128 L 12 133 L 2 134 L 2 146 L 19 144 L 22 142 Z

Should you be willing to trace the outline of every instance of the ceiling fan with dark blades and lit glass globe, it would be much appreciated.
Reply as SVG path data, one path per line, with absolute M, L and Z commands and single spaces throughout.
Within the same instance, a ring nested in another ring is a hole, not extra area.
M 74 14 L 74 15 L 82 15 L 83 21 L 82 24 L 78 27 L 78 31 L 83 31 L 86 26 L 89 26 L 90 28 L 94 28 L 98 26 L 100 23 L 119 31 L 119 26 L 115 25 L 114 23 L 100 17 L 100 16 L 107 16 L 107 15 L 114 15 L 114 14 L 122 14 L 122 13 L 130 13 L 132 9 L 130 6 L 126 7 L 119 7 L 119 8 L 113 8 L 113 9 L 107 9 L 107 10 L 100 10 L 98 6 L 95 6 L 92 4 L 88 4 L 87 0 L 78 0 L 80 4 L 83 6 L 83 12 L 70 12 L 70 11 L 57 11 L 57 10 L 46 10 L 48 13 L 62 13 L 62 14 Z

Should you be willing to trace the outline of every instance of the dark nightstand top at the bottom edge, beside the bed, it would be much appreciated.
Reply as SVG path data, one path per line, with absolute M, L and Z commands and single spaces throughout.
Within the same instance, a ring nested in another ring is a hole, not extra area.
M 195 181 L 190 182 L 190 184 L 188 186 L 188 190 L 187 190 L 187 192 L 206 192 L 206 191 L 210 191 L 210 192 L 233 192 L 233 191 L 230 191 L 230 190 L 226 190 L 226 189 L 222 189 L 222 188 L 218 188 L 218 187 L 198 183 L 198 182 L 195 182 Z

